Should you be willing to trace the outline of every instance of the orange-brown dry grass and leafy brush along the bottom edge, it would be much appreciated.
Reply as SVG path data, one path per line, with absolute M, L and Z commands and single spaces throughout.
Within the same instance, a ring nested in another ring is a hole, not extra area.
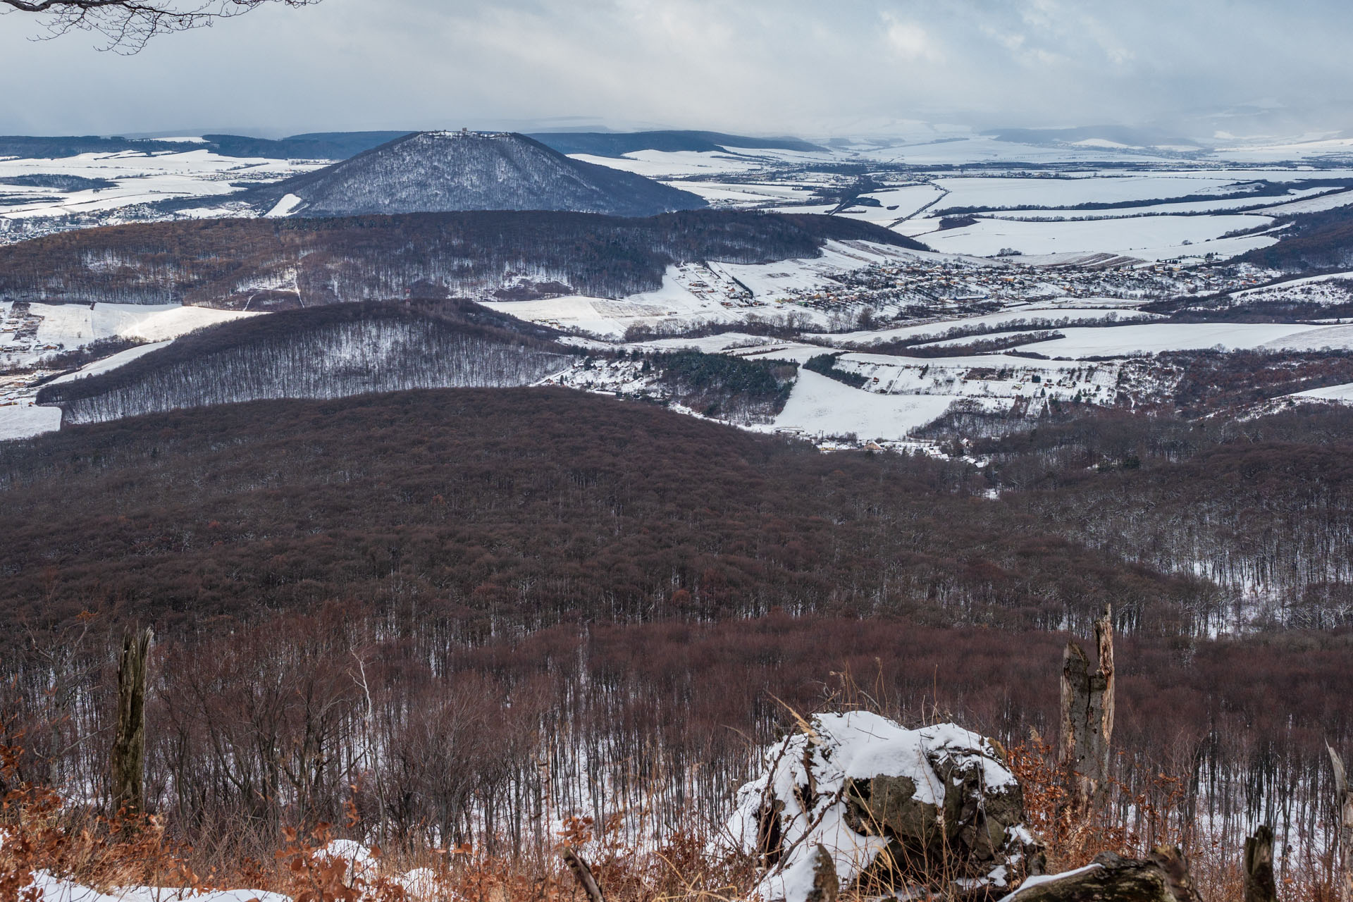
M 1128 825 L 1114 814 L 1122 805 L 1072 809 L 1053 749 L 1038 737 L 1007 755 L 1024 787 L 1027 824 L 1046 842 L 1049 872 L 1080 867 L 1105 851 L 1141 856 L 1157 842 L 1176 842 L 1189 856 L 1204 899 L 1242 897 L 1239 848 L 1226 848 L 1187 825 L 1178 780 L 1153 775 L 1151 791 L 1131 799 L 1134 824 Z M 271 855 L 223 865 L 218 855 L 166 841 L 154 817 L 106 818 L 68 803 L 50 788 L 15 782 L 16 760 L 15 749 L 0 748 L 0 902 L 37 902 L 31 890 L 24 893 L 34 870 L 104 893 L 127 886 L 249 887 L 296 902 L 582 902 L 584 895 L 559 856 L 566 847 L 584 851 L 607 902 L 732 902 L 747 898 L 759 876 L 751 856 L 712 859 L 708 826 L 674 830 L 662 845 L 641 849 L 621 834 L 620 818 L 609 824 L 568 818 L 551 848 L 515 856 L 471 845 L 425 845 L 390 855 L 372 848 L 369 863 L 317 856 L 336 833 L 333 825 L 318 824 L 308 830 L 281 830 L 279 848 Z M 1122 792 L 1122 787 L 1112 792 Z M 360 836 L 363 826 L 353 809 L 341 832 Z M 1327 857 L 1310 857 L 1307 865 L 1291 870 L 1280 887 L 1281 898 L 1335 902 L 1329 865 Z M 863 899 L 866 893 L 843 898 Z

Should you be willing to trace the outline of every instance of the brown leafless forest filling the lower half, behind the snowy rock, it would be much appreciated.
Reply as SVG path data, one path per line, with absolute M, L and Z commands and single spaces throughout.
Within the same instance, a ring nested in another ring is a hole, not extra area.
M 440 389 L 11 442 L 3 744 L 107 798 L 112 648 L 153 623 L 147 799 L 196 867 L 344 822 L 522 863 L 568 815 L 708 830 L 789 709 L 958 719 L 1036 774 L 1065 630 L 1112 603 L 1116 783 L 1063 861 L 1170 838 L 1229 886 L 1266 822 L 1329 898 L 1348 418 L 1111 414 L 977 468 Z

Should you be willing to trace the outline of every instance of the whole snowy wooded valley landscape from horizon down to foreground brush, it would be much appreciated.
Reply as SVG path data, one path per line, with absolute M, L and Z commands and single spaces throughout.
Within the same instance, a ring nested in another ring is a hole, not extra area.
M 227 872 L 359 807 L 402 855 L 524 867 L 586 815 L 587 855 L 708 859 L 785 706 L 877 694 L 1039 767 L 1058 646 L 1109 610 L 1095 836 L 1262 811 L 1316 848 L 1353 734 L 1345 151 L 226 138 L 0 160 L 0 736 L 68 784 L 103 715 L 47 675 L 101 698 L 62 649 L 153 622 L 152 791 L 175 836 L 239 825 Z M 298 147 L 337 158 L 265 156 Z

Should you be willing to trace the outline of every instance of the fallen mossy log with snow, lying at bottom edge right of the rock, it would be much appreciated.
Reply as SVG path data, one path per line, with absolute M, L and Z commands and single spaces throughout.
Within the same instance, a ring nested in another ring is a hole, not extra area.
M 1095 863 L 1047 878 L 1031 878 L 1005 902 L 1199 902 L 1188 863 L 1174 847 L 1145 860 L 1103 852 Z

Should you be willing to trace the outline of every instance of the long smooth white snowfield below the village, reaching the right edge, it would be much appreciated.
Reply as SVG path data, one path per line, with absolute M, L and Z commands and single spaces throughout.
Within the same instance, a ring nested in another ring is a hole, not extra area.
M 1306 323 L 1149 323 L 1104 329 L 1059 329 L 1065 338 L 1022 345 L 1049 357 L 1124 357 L 1170 350 L 1353 348 L 1353 326 Z M 943 346 L 950 342 L 936 342 Z

